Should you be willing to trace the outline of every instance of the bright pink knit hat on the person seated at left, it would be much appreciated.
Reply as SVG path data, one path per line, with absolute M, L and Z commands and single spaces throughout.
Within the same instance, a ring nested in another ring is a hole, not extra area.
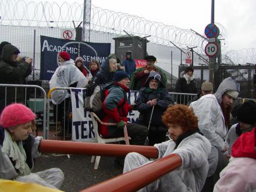
M 35 120 L 35 114 L 23 104 L 10 104 L 6 106 L 0 116 L 0 125 L 3 129 L 24 124 Z

